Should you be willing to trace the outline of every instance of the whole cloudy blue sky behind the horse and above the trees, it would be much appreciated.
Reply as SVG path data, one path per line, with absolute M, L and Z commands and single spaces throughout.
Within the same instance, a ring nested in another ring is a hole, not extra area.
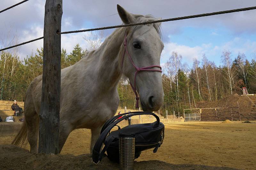
M 0 10 L 20 2 L 20 0 L 2 0 Z M 43 36 L 44 4 L 42 0 L 30 0 L 0 14 L 0 48 L 17 37 L 21 43 Z M 156 18 L 174 18 L 215 11 L 256 6 L 255 0 L 108 0 L 108 1 L 63 1 L 62 31 L 120 25 L 116 4 L 134 14 L 152 14 Z M 183 56 L 190 66 L 193 58 L 202 59 L 202 54 L 221 64 L 221 52 L 231 51 L 232 59 L 238 52 L 244 53 L 249 60 L 256 54 L 256 10 L 235 12 L 209 17 L 164 22 L 162 26 L 164 50 L 161 65 L 168 60 L 172 51 Z M 113 29 L 104 31 L 108 36 Z M 8 36 L 9 35 L 9 36 Z M 68 54 L 76 43 L 88 48 L 83 36 L 87 33 L 65 34 L 61 37 L 61 46 Z M 4 43 L 3 43 L 4 42 Z M 23 59 L 36 48 L 43 47 L 43 40 L 19 47 Z M 11 52 L 11 50 L 10 50 Z

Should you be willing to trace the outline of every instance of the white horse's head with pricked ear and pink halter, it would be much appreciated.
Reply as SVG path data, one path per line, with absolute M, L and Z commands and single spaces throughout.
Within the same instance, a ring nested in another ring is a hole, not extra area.
M 151 15 L 131 14 L 119 5 L 117 11 L 124 24 L 156 20 Z M 160 72 L 160 55 L 164 44 L 159 26 L 159 23 L 155 23 L 125 28 L 127 43 L 124 44 L 127 51 L 121 59 L 121 69 L 131 85 L 135 84 L 144 111 L 157 111 L 164 101 Z

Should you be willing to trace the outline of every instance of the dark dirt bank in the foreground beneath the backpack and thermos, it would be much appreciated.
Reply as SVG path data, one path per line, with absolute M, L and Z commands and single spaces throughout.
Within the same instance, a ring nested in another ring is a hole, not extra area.
M 1 169 L 119 169 L 119 164 L 104 157 L 98 165 L 92 162 L 90 154 L 83 155 L 47 155 L 31 154 L 28 150 L 14 145 L 0 145 Z M 234 169 L 190 164 L 169 164 L 159 160 L 134 162 L 134 169 Z

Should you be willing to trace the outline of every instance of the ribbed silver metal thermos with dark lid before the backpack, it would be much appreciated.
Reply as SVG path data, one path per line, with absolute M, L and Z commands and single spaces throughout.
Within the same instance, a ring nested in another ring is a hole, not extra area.
M 119 133 L 119 164 L 121 170 L 133 169 L 135 134 Z

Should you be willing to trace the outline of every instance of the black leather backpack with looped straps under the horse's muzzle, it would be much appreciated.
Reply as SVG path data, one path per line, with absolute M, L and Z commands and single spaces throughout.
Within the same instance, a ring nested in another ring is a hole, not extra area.
M 118 130 L 110 132 L 114 126 L 117 126 L 117 123 L 135 115 L 153 115 L 156 117 L 156 122 L 133 124 L 122 129 L 118 126 Z M 121 119 L 117 119 L 120 116 L 123 117 Z M 135 134 L 134 158 L 136 159 L 140 156 L 141 151 L 151 148 L 155 148 L 153 151 L 154 153 L 157 151 L 158 147 L 161 146 L 164 140 L 164 124 L 161 123 L 159 117 L 152 112 L 129 112 L 112 117 L 103 125 L 100 137 L 93 147 L 92 160 L 95 164 L 100 162 L 106 151 L 108 159 L 114 162 L 119 162 L 119 133 Z M 103 143 L 105 147 L 100 152 Z

